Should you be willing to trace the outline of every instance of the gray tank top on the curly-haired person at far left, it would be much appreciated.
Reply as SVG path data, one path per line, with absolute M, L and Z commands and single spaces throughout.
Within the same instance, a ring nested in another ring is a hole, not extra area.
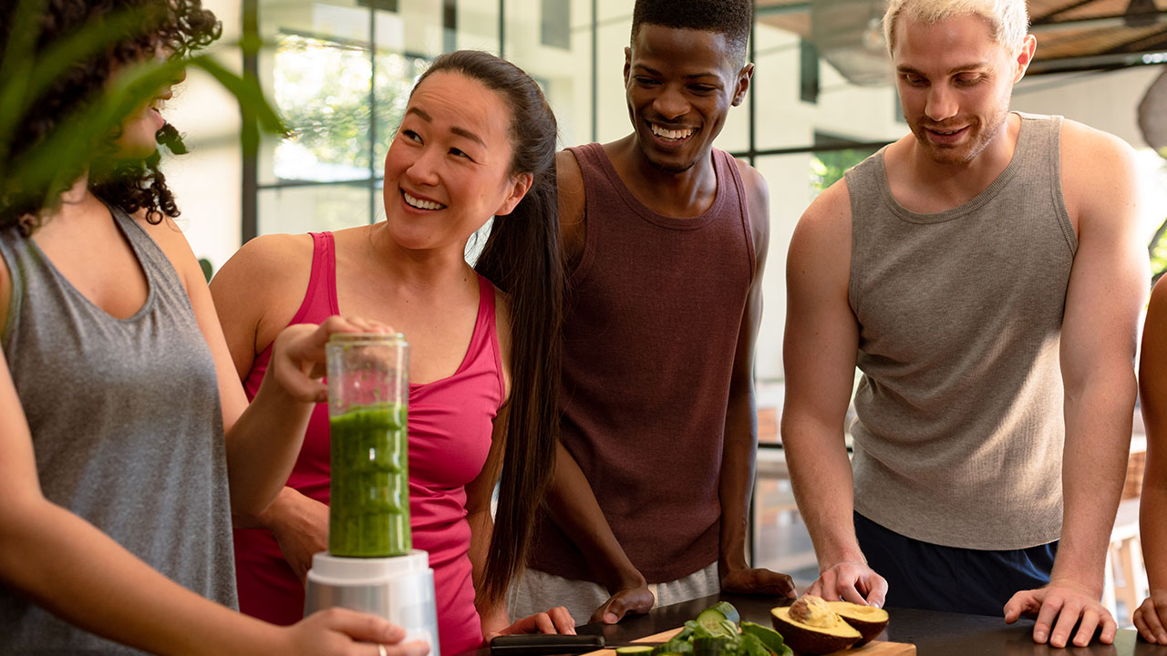
M 13 288 L 4 354 L 41 488 L 159 572 L 235 608 L 215 363 L 166 254 L 134 219 L 111 211 L 149 285 L 125 320 L 83 296 L 33 239 L 0 230 Z M 0 652 L 137 654 L 2 585 Z

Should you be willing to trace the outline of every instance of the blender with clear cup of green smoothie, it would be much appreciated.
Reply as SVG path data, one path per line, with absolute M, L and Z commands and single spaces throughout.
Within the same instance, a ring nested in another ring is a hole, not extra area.
M 400 334 L 337 333 L 326 360 L 328 551 L 312 559 L 305 615 L 333 606 L 372 613 L 438 654 L 434 573 L 410 535 L 408 344 Z

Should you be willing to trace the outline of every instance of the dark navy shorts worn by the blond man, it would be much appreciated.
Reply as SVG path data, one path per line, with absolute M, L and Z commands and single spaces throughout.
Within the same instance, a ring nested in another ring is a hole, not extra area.
M 911 539 L 855 512 L 867 564 L 887 579 L 885 606 L 1004 615 L 1014 593 L 1049 582 L 1057 543 L 985 551 Z

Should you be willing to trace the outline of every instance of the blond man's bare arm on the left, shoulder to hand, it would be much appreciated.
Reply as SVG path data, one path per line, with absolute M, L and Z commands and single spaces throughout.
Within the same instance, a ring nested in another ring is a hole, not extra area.
M 854 481 L 843 421 L 859 324 L 847 300 L 851 197 L 824 191 L 798 221 L 787 256 L 785 402 L 782 446 L 798 511 L 818 557 L 810 592 L 882 606 L 887 584 L 867 567 L 854 530 Z

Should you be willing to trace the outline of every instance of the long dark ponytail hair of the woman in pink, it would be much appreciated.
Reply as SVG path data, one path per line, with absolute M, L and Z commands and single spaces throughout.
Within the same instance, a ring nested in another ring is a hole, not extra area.
M 559 441 L 562 265 L 559 254 L 558 128 L 539 86 L 515 64 L 478 50 L 434 60 L 421 76 L 453 70 L 497 92 L 511 110 L 511 173 L 531 188 L 497 216 L 475 270 L 511 296 L 511 393 L 495 530 L 478 591 L 502 599 L 526 561 L 536 512 L 554 470 Z M 420 84 L 420 79 L 418 83 Z

